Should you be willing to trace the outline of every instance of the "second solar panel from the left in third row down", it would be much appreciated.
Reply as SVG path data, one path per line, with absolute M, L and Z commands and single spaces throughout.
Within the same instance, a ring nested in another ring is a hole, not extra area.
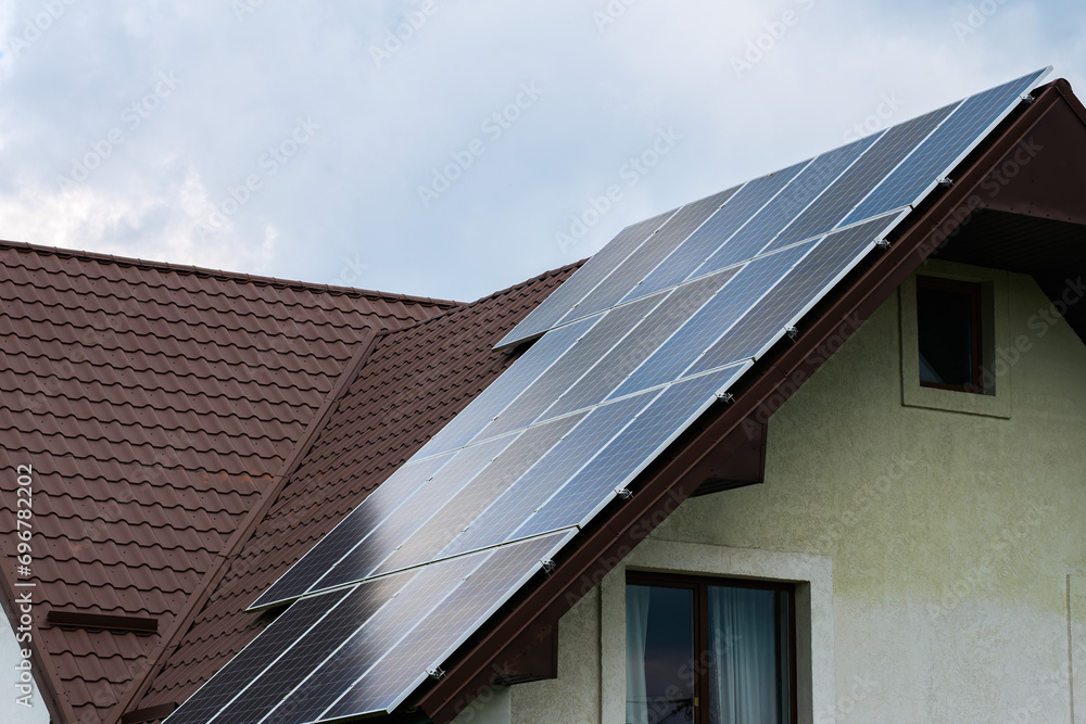
M 318 579 L 311 590 L 331 588 L 371 575 L 381 561 L 404 545 L 516 436 L 516 433 L 509 434 L 458 450 L 452 460 L 418 487 L 411 499 L 363 536 L 358 545 Z

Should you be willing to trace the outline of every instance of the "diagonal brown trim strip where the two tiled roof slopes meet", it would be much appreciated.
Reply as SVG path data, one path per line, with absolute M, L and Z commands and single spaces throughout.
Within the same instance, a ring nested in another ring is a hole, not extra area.
M 268 508 L 275 504 L 279 497 L 279 493 L 282 492 L 282 486 L 287 483 L 291 473 L 301 463 L 305 454 L 313 446 L 319 432 L 325 428 L 328 418 L 336 410 L 339 405 L 339 399 L 346 391 L 351 382 L 358 376 L 358 371 L 366 365 L 369 359 L 370 353 L 374 351 L 374 346 L 377 344 L 377 334 L 371 331 L 366 330 L 365 336 L 358 342 L 355 348 L 354 355 L 343 367 L 343 371 L 340 372 L 339 379 L 336 381 L 336 385 L 332 388 L 328 396 L 325 397 L 325 402 L 321 403 L 320 408 L 314 414 L 313 419 L 305 428 L 305 432 L 302 434 L 301 439 L 294 444 L 293 449 L 287 459 L 283 460 L 282 466 L 279 468 L 279 472 L 276 473 L 275 479 L 272 484 L 264 491 L 261 495 L 260 503 L 253 507 L 242 521 L 241 525 L 233 532 L 230 539 L 227 541 L 223 549 L 216 555 L 214 562 L 209 567 L 206 575 L 200 582 L 192 595 L 185 601 L 185 606 L 177 613 L 174 619 L 173 625 L 171 625 L 169 631 L 159 640 L 159 644 L 154 647 L 152 652 L 148 656 L 147 662 L 143 665 L 141 672 L 132 677 L 131 685 L 125 690 L 124 696 L 121 697 L 116 706 L 110 712 L 110 715 L 105 720 L 105 724 L 124 724 L 124 711 L 130 707 L 134 702 L 140 701 L 147 694 L 147 690 L 151 687 L 154 682 L 154 677 L 157 676 L 159 672 L 166 664 L 169 659 L 169 655 L 174 652 L 174 649 L 181 643 L 181 638 L 185 633 L 192 625 L 193 620 L 200 613 L 206 598 L 215 589 L 215 586 L 223 580 L 229 569 L 229 563 L 233 560 L 238 550 L 244 545 L 245 541 L 253 534 L 256 530 L 256 525 L 260 524 L 261 520 L 267 513 Z M 131 712 L 135 713 L 135 712 Z M 74 720 L 73 720 L 74 721 Z M 143 721 L 143 720 L 136 720 Z

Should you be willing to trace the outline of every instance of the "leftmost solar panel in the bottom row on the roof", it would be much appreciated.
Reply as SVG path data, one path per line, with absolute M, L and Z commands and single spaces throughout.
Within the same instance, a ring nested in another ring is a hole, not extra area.
M 290 647 L 350 593 L 336 590 L 296 601 L 171 714 L 169 724 L 210 721 L 276 657 L 289 653 Z

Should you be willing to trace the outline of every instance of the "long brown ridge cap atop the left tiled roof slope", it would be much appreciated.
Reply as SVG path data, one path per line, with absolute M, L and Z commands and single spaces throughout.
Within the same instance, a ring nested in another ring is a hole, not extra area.
M 379 290 L 358 289 L 355 287 L 321 284 L 317 282 L 300 281 L 294 279 L 279 279 L 277 277 L 265 277 L 262 275 L 251 275 L 241 271 L 226 271 L 223 269 L 211 269 L 207 267 L 198 267 L 186 264 L 173 264 L 171 262 L 154 262 L 151 259 L 141 259 L 134 256 L 117 256 L 115 254 L 101 254 L 99 252 L 88 252 L 77 249 L 63 249 L 61 246 L 31 244 L 26 241 L 11 241 L 7 239 L 0 239 L 0 249 L 5 249 L 5 247 L 15 250 L 27 250 L 42 254 L 52 254 L 54 256 L 92 259 L 96 262 L 108 262 L 110 264 L 116 264 L 119 266 L 134 266 L 140 268 L 149 268 L 149 269 L 165 269 L 169 271 L 176 271 L 178 274 L 191 274 L 197 276 L 211 277 L 214 279 L 225 279 L 232 281 L 251 281 L 256 284 L 265 284 L 268 287 L 287 287 L 291 289 L 304 289 L 314 292 L 328 292 L 331 294 L 346 294 L 350 296 L 397 300 L 401 302 L 411 302 L 414 304 L 427 304 L 431 306 L 449 307 L 449 308 L 462 307 L 465 304 L 464 302 L 457 302 L 456 300 L 442 300 L 431 296 L 417 296 L 414 294 L 401 294 L 399 292 L 382 292 Z

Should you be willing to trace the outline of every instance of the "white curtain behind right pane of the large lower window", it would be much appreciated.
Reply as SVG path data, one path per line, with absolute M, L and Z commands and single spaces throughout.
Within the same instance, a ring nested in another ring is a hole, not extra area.
M 781 721 L 775 596 L 772 590 L 709 586 L 712 722 Z

